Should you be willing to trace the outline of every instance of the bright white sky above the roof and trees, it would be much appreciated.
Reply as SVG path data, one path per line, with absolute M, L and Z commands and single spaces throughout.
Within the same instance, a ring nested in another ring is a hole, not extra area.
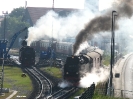
M 25 7 L 52 7 L 53 0 L 0 0 L 0 15 L 8 11 L 10 13 L 14 8 Z M 99 0 L 99 10 L 111 7 L 111 3 L 116 0 Z M 54 0 L 54 7 L 59 8 L 84 8 L 85 0 Z

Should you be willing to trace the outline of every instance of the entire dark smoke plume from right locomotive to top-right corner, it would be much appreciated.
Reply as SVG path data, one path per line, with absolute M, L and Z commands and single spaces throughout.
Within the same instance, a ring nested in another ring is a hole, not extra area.
M 121 0 L 121 2 L 119 2 L 119 5 L 114 9 L 118 13 L 117 19 L 119 19 L 120 17 L 130 18 L 133 14 L 133 0 Z M 87 39 L 91 39 L 93 37 L 93 34 L 102 31 L 111 31 L 112 11 L 113 10 L 109 10 L 103 16 L 95 17 L 85 26 L 84 29 L 82 29 L 78 33 L 78 35 L 76 36 L 75 44 L 73 46 L 74 54 L 79 49 L 80 44 Z M 118 29 L 118 26 L 115 29 Z

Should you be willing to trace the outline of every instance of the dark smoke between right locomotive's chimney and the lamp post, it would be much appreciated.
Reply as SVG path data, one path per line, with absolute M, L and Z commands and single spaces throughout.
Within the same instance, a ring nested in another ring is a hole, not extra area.
M 73 46 L 74 53 L 76 53 L 77 49 L 79 48 L 79 45 L 86 41 L 88 38 L 92 38 L 94 33 L 97 33 L 99 31 L 108 31 L 111 29 L 110 27 L 111 17 L 109 16 L 100 16 L 91 20 L 89 24 L 87 24 L 86 27 L 81 30 L 76 36 L 76 42 Z

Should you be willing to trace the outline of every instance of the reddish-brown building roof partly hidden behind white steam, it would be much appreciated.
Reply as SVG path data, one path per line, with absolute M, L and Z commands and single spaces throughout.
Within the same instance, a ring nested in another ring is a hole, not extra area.
M 67 16 L 72 11 L 75 11 L 78 9 L 71 9 L 71 8 L 52 9 L 47 7 L 27 7 L 25 14 L 29 14 L 31 24 L 34 25 L 41 16 L 45 15 L 50 10 L 54 10 L 56 13 L 59 13 L 60 16 Z

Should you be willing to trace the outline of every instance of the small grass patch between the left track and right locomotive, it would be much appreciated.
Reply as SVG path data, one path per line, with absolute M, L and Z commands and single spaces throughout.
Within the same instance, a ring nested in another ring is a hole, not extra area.
M 62 78 L 62 72 L 57 67 L 42 67 L 41 70 L 46 71 L 47 73 L 53 75 L 54 77 Z

